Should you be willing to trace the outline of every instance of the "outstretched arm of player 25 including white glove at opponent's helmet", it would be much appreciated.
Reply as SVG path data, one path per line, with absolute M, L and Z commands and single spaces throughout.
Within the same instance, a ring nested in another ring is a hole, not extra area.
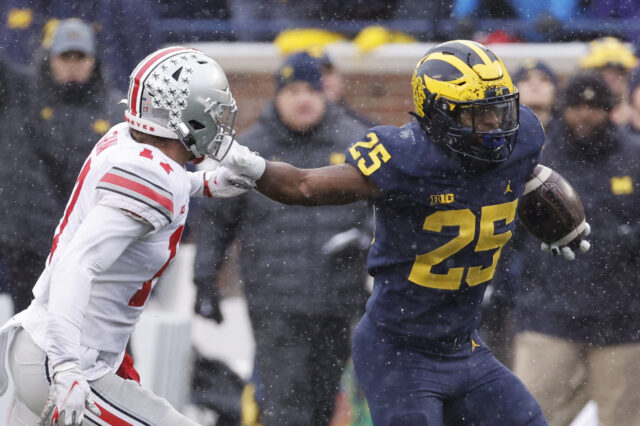
M 284 204 L 347 204 L 382 195 L 380 188 L 350 164 L 299 169 L 266 161 L 237 142 L 232 143 L 222 165 L 254 179 L 258 191 Z

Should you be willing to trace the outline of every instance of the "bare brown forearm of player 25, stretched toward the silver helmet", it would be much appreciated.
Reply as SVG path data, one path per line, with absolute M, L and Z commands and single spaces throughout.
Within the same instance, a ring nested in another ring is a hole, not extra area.
M 287 163 L 267 162 L 258 191 L 284 204 L 306 206 L 347 204 L 377 195 L 375 188 L 347 164 L 299 169 Z

